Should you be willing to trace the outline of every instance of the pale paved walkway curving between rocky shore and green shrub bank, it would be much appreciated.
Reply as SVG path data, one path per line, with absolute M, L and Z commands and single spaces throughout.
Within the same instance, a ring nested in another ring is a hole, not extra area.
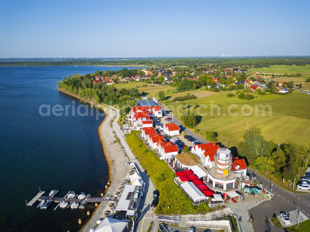
M 151 208 L 151 204 L 153 201 L 153 191 L 155 190 L 155 186 L 153 182 L 149 179 L 148 174 L 142 168 L 139 161 L 136 159 L 134 154 L 131 152 L 131 149 L 128 146 L 127 142 L 125 141 L 125 138 L 122 132 L 117 126 L 117 121 L 120 117 L 119 110 L 116 109 L 115 107 L 111 107 L 111 106 L 107 106 L 107 107 L 110 107 L 117 112 L 117 116 L 112 123 L 112 129 L 114 130 L 117 138 L 120 140 L 122 146 L 124 147 L 124 150 L 130 159 L 130 162 L 136 164 L 136 167 L 138 168 L 139 173 L 141 174 L 141 177 L 145 183 L 145 191 L 143 193 L 144 198 L 142 198 L 140 202 L 139 217 L 137 221 L 138 226 L 136 229 L 137 232 L 142 232 L 142 231 L 144 232 L 144 231 L 147 231 L 150 223 L 153 221 L 153 211 Z

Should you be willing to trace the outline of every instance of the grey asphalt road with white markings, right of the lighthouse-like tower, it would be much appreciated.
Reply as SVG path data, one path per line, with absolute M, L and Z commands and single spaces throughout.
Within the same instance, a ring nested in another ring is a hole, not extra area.
M 263 188 L 271 192 L 271 185 L 272 185 L 272 196 L 274 199 L 277 197 L 280 199 L 282 204 L 274 204 L 274 210 L 279 211 L 277 215 L 280 214 L 286 206 L 289 204 L 291 209 L 300 210 L 305 214 L 307 217 L 310 218 L 310 194 L 296 194 L 291 193 L 280 186 L 277 186 L 275 183 L 271 182 L 270 180 L 266 179 L 265 177 L 261 176 L 258 173 L 255 173 L 252 169 L 248 169 L 249 176 L 252 176 L 254 173 L 254 177 L 256 178 L 256 182 L 262 183 Z M 295 183 L 296 184 L 296 183 Z M 295 186 L 296 187 L 296 186 Z M 270 204 L 273 204 L 273 200 L 270 201 Z M 284 210 L 283 210 L 284 211 Z

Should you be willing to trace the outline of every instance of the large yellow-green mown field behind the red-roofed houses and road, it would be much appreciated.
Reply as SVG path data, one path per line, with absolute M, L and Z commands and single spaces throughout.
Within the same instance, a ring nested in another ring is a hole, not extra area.
M 197 128 L 217 132 L 219 142 L 230 143 L 230 146 L 236 146 L 242 141 L 243 132 L 249 123 L 257 124 L 267 140 L 277 143 L 290 141 L 303 144 L 310 149 L 310 96 L 308 94 L 294 91 L 287 95 L 255 94 L 255 96 L 257 98 L 242 100 L 237 96 L 229 98 L 227 93 L 221 93 L 190 100 L 186 104 L 199 105 L 197 109 L 193 109 L 194 114 L 198 115 Z M 210 107 L 216 104 L 220 107 L 214 107 L 212 116 Z M 270 105 L 272 115 L 269 116 L 269 108 L 266 108 L 263 116 L 262 108 L 257 107 L 258 105 Z M 234 106 L 231 108 L 231 113 L 236 116 L 229 115 L 228 109 L 231 106 Z M 245 113 L 249 113 L 250 108 L 253 112 L 249 116 L 243 115 L 241 111 L 243 106 L 246 107 Z M 176 109 L 175 112 L 179 118 L 184 113 L 181 103 L 169 103 L 169 108 L 171 107 Z

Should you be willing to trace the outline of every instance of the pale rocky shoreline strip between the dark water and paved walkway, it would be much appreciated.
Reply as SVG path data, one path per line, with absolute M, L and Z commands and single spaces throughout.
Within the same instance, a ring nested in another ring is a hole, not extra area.
M 109 166 L 109 182 L 110 185 L 105 195 L 114 195 L 117 192 L 117 188 L 123 182 L 126 174 L 129 171 L 129 166 L 124 166 L 129 160 L 125 156 L 125 151 L 122 145 L 117 142 L 117 137 L 111 127 L 111 121 L 115 120 L 116 112 L 108 107 L 100 107 L 106 113 L 106 116 L 98 128 L 99 137 L 104 150 L 104 155 Z M 91 228 L 94 228 L 96 221 L 101 217 L 104 217 L 104 209 L 111 202 L 102 202 L 97 209 L 93 212 L 91 219 L 83 226 L 80 231 L 89 232 Z

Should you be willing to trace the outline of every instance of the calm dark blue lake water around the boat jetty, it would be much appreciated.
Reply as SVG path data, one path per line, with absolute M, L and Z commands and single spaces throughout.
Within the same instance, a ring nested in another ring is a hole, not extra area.
M 38 203 L 26 207 L 26 199 L 39 187 L 46 195 L 57 189 L 59 197 L 68 191 L 100 196 L 108 181 L 98 136 L 104 116 L 72 116 L 70 110 L 68 116 L 41 116 L 39 107 L 84 104 L 56 89 L 62 77 L 124 67 L 0 67 L 0 231 L 77 231 L 78 219 L 84 224 L 94 206 L 54 211 L 53 203 L 40 210 Z

